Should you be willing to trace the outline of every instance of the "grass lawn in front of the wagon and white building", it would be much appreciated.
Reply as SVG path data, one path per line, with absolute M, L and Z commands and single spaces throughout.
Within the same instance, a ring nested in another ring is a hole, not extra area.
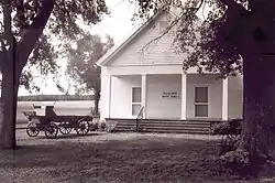
M 216 140 L 191 137 L 90 133 L 50 140 L 19 130 L 21 148 L 0 152 L 0 182 L 241 182 L 216 162 Z

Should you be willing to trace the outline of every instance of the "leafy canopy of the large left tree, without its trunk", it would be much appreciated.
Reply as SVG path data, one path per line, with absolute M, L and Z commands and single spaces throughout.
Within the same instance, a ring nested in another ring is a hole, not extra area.
M 47 10 L 51 8 L 53 11 Z M 47 13 L 51 13 L 51 17 L 43 31 Z M 30 42 L 30 47 L 25 47 L 25 55 L 31 55 L 20 79 L 20 84 L 26 89 L 38 90 L 34 84 L 33 69 L 37 69 L 40 75 L 56 75 L 59 68 L 56 60 L 63 56 L 62 45 L 56 40 L 64 42 L 76 40 L 84 33 L 79 22 L 96 24 L 108 13 L 105 0 L 3 0 L 0 8 L 0 14 L 4 18 L 0 26 L 0 54 L 3 56 L 7 51 L 10 35 L 16 40 L 20 47 L 30 36 L 35 36 L 32 35 L 32 30 L 41 29 L 43 34 L 36 37 L 37 42 L 34 37 L 34 43 Z M 12 32 L 7 32 L 9 26 Z M 4 61 L 3 58 L 0 61 L 1 66 Z

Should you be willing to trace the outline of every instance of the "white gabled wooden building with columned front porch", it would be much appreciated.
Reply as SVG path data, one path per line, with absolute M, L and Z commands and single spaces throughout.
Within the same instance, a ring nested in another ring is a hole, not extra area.
M 101 66 L 101 119 L 228 120 L 242 117 L 242 76 L 183 71 L 185 53 L 176 54 L 174 36 L 161 35 L 168 24 L 163 11 L 98 61 Z M 153 28 L 154 26 L 154 28 Z

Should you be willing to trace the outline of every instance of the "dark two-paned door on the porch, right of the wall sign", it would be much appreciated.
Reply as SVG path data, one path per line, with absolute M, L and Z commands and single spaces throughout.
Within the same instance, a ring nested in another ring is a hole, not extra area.
M 195 117 L 208 117 L 208 87 L 195 87 Z

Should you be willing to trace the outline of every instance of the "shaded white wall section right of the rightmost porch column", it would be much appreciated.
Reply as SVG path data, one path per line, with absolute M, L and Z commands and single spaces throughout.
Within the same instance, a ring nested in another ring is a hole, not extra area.
M 243 111 L 243 76 L 229 77 L 228 79 L 229 118 L 242 118 Z

